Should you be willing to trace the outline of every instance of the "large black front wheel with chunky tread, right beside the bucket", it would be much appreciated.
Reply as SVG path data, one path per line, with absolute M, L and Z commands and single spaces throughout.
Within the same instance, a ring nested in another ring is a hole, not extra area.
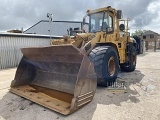
M 96 47 L 89 54 L 89 59 L 94 64 L 98 86 L 106 87 L 115 82 L 119 71 L 119 61 L 114 47 Z

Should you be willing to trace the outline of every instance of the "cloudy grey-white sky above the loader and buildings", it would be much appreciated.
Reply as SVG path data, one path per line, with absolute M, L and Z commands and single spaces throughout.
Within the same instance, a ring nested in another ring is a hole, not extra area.
M 82 21 L 86 10 L 112 6 L 131 19 L 130 29 L 160 33 L 160 0 L 0 0 L 0 31 L 25 29 L 40 20 Z

